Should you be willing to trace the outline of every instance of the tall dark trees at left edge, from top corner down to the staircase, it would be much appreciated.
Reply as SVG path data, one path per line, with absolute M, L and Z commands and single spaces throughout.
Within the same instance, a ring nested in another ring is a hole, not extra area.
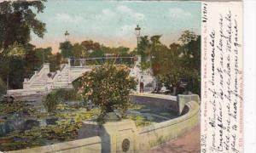
M 21 88 L 24 77 L 38 63 L 29 42 L 31 31 L 38 37 L 43 37 L 46 31 L 45 24 L 37 19 L 37 14 L 44 10 L 43 1 L 0 3 L 0 77 L 9 80 L 10 88 Z

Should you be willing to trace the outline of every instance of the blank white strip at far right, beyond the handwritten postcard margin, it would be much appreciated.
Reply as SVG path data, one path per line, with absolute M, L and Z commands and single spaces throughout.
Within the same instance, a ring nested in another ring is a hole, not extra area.
M 256 1 L 244 0 L 244 152 L 256 152 Z

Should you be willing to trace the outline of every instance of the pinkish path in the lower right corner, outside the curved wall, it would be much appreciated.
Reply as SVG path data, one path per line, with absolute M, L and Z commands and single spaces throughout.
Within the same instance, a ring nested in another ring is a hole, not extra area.
M 200 152 L 200 125 L 185 135 L 162 144 L 148 153 L 198 153 Z

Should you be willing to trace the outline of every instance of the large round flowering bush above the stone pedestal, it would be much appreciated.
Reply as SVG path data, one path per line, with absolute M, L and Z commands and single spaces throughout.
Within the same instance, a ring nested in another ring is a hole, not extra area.
M 91 100 L 99 106 L 101 122 L 103 117 L 113 110 L 119 110 L 124 117 L 131 104 L 131 90 L 136 89 L 137 82 L 129 75 L 130 69 L 125 65 L 104 64 L 90 72 L 84 73 L 79 79 L 80 91 L 84 101 Z

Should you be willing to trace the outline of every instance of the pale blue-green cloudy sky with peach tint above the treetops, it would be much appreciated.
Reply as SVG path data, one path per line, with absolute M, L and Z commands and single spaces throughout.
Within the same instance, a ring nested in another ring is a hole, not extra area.
M 38 19 L 46 23 L 44 38 L 32 35 L 37 47 L 58 51 L 70 33 L 71 42 L 93 40 L 108 46 L 135 48 L 134 28 L 142 27 L 142 36 L 161 34 L 162 42 L 176 42 L 184 30 L 201 33 L 201 3 L 142 1 L 60 1 L 48 0 Z

